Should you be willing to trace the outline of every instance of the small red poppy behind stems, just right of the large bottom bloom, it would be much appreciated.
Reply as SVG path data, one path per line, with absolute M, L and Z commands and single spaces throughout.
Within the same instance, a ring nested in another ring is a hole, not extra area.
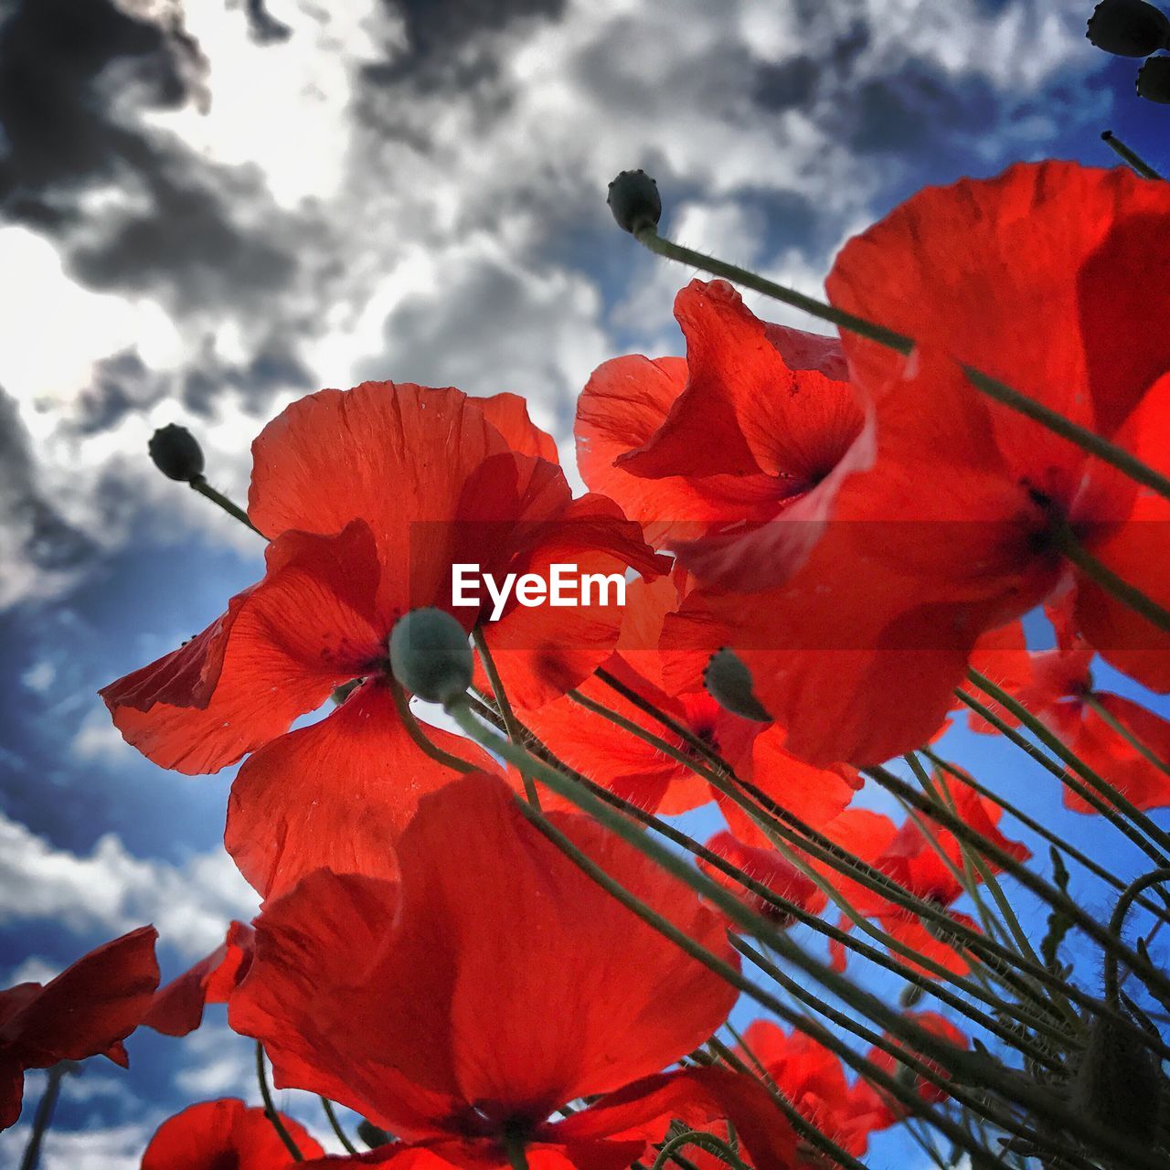
M 756 1020 L 743 1039 L 746 1049 L 741 1059 L 751 1067 L 758 1061 L 789 1101 L 854 1157 L 866 1152 L 872 1133 L 893 1123 L 873 1089 L 863 1081 L 849 1085 L 841 1061 L 803 1032 L 787 1033 L 769 1020 Z M 824 1155 L 812 1149 L 803 1150 L 797 1162 L 808 1170 L 824 1164 Z

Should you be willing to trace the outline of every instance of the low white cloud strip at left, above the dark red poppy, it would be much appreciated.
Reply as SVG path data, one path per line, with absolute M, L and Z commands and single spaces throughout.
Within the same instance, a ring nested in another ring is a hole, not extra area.
M 0 922 L 51 918 L 111 938 L 152 922 L 163 942 L 197 958 L 223 941 L 229 920 L 248 920 L 256 907 L 227 853 L 176 866 L 131 856 L 106 833 L 80 856 L 0 815 Z

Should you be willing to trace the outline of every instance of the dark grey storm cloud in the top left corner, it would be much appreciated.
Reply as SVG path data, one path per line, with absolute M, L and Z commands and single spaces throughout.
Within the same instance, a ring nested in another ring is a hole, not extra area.
M 241 230 L 233 206 L 270 204 L 259 173 L 213 166 L 126 116 L 131 103 L 206 99 L 207 63 L 180 15 L 164 8 L 152 22 L 111 0 L 15 0 L 0 25 L 0 214 L 54 233 L 83 283 L 157 290 L 183 311 L 288 281 L 300 225 L 269 208 L 263 234 Z M 273 39 L 262 5 L 248 16 L 253 35 L 263 27 Z M 87 216 L 80 199 L 95 185 L 128 198 Z

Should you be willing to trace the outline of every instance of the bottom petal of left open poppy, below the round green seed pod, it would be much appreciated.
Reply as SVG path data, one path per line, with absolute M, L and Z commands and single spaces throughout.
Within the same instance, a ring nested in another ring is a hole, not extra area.
M 438 728 L 427 737 L 476 766 L 493 766 L 468 739 Z M 274 739 L 240 768 L 223 840 L 263 897 L 280 896 L 321 867 L 392 876 L 391 846 L 419 798 L 454 775 L 414 744 L 388 688 L 371 680 L 325 718 Z

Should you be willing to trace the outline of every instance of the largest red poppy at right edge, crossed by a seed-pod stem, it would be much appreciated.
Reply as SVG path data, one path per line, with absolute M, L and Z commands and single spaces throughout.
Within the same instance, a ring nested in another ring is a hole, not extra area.
M 1165 184 L 1046 163 L 927 188 L 841 253 L 833 302 L 920 343 L 903 362 L 845 336 L 874 433 L 814 493 L 810 523 L 785 512 L 682 550 L 721 591 L 755 591 L 711 605 L 798 756 L 870 764 L 929 738 L 979 635 L 1081 576 L 1061 534 L 1170 603 L 1170 502 L 982 395 L 958 364 L 1165 470 L 1170 292 L 1148 241 L 1168 221 Z M 745 560 L 757 571 L 737 585 Z M 1076 620 L 1114 665 L 1170 688 L 1170 638 L 1083 578 Z

